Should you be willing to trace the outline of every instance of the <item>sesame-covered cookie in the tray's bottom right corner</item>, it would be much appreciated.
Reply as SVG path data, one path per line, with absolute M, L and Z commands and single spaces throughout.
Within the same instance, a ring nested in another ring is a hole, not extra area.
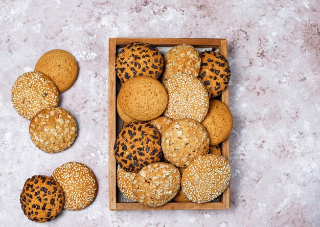
M 205 154 L 187 167 L 181 178 L 181 187 L 191 201 L 209 202 L 226 189 L 230 177 L 230 164 L 223 156 Z

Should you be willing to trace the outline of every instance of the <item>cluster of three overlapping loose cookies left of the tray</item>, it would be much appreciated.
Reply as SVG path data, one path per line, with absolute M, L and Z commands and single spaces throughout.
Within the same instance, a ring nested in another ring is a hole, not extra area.
M 31 140 L 44 152 L 63 151 L 75 141 L 76 121 L 58 104 L 59 93 L 70 88 L 77 76 L 75 58 L 66 51 L 52 50 L 39 58 L 34 72 L 22 74 L 13 84 L 13 107 L 30 120 Z

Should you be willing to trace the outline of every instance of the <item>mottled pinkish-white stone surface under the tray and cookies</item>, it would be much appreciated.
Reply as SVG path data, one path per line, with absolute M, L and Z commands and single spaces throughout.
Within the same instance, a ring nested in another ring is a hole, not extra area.
M 1 226 L 39 226 L 22 213 L 20 190 L 28 177 L 70 161 L 93 169 L 98 196 L 42 226 L 320 225 L 319 0 L 41 2 L 0 4 Z M 108 210 L 108 38 L 117 36 L 228 39 L 230 210 Z M 70 149 L 47 154 L 32 144 L 10 90 L 56 48 L 80 66 L 60 103 L 76 118 L 79 135 Z

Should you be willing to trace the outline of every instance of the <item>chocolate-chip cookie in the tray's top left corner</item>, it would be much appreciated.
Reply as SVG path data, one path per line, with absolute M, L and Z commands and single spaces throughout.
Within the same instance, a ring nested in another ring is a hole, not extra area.
M 116 75 L 126 82 L 136 76 L 159 78 L 164 61 L 161 53 L 152 44 L 132 42 L 125 46 L 116 59 Z

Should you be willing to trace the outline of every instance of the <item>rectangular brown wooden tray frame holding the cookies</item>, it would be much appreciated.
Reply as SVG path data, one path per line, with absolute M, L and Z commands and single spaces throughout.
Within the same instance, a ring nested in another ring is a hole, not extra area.
M 124 47 L 131 42 L 151 43 L 157 47 L 173 47 L 179 44 L 190 44 L 195 48 L 213 48 L 219 50 L 227 59 L 226 39 L 199 39 L 199 38 L 109 38 L 109 209 L 113 210 L 221 210 L 230 209 L 230 185 L 220 196 L 219 202 L 194 203 L 194 202 L 168 202 L 160 207 L 147 207 L 136 202 L 117 201 L 116 158 L 113 156 L 113 145 L 117 137 L 119 116 L 117 115 L 116 100 L 117 90 L 120 89 L 120 80 L 116 76 L 115 63 L 117 48 Z M 228 89 L 224 90 L 219 99 L 228 105 Z M 229 138 L 221 144 L 221 153 L 229 160 Z

